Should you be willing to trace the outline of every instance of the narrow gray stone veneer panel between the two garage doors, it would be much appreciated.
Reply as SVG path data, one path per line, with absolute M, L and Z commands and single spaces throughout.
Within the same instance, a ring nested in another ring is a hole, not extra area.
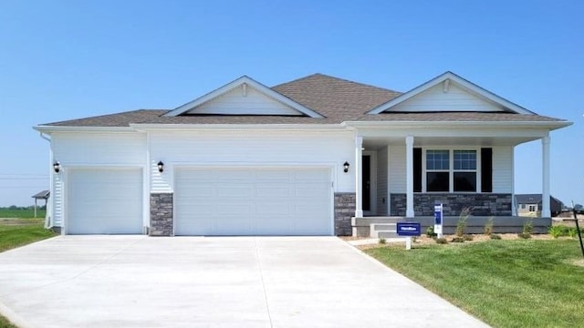
M 172 193 L 150 194 L 150 235 L 172 236 Z

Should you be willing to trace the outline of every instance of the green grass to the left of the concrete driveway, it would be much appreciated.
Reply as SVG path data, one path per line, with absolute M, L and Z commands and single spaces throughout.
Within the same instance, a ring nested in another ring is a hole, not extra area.
M 44 219 L 0 219 L 0 251 L 56 236 L 56 233 L 44 228 L 44 222 Z M 16 326 L 0 315 L 0 328 Z

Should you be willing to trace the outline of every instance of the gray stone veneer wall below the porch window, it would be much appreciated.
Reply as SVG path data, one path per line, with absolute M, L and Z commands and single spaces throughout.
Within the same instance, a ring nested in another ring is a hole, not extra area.
M 406 195 L 392 193 L 391 216 L 405 216 Z M 504 193 L 414 193 L 413 211 L 416 216 L 433 216 L 434 203 L 443 203 L 444 216 L 458 216 L 471 208 L 474 216 L 511 215 L 512 197 Z

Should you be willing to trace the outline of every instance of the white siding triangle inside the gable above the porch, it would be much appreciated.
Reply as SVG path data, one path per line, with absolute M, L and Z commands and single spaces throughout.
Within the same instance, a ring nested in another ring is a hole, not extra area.
M 445 87 L 443 82 L 385 110 L 385 112 L 433 111 L 505 112 L 506 108 L 477 97 L 454 84 L 449 83 L 449 86 Z

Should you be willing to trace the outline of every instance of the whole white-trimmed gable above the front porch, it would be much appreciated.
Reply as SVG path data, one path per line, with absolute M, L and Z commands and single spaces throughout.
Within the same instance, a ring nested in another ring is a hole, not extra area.
M 534 115 L 452 72 L 371 109 L 368 114 L 415 112 L 505 112 Z

